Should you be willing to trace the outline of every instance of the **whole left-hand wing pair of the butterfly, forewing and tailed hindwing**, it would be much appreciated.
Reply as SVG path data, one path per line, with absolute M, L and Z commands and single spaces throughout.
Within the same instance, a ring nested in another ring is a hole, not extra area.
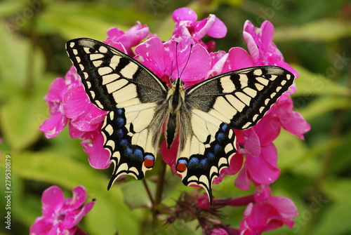
M 154 166 L 166 115 L 166 85 L 138 61 L 100 41 L 73 39 L 66 50 L 91 102 L 109 111 L 102 125 L 104 147 L 115 166 L 108 187 L 120 175 L 142 179 Z

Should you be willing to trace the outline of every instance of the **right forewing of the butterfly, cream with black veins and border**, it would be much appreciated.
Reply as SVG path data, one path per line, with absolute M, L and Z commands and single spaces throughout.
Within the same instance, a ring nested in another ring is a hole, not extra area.
M 198 83 L 187 90 L 186 100 L 191 107 L 243 130 L 263 118 L 293 79 L 293 74 L 281 67 L 249 67 Z

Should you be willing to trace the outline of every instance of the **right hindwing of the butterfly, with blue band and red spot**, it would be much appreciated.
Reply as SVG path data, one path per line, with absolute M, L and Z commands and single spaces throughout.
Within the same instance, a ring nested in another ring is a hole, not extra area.
M 190 109 L 180 116 L 182 140 L 176 169 L 185 185 L 203 187 L 211 201 L 213 180 L 229 166 L 237 151 L 234 132 L 230 125 L 199 109 Z

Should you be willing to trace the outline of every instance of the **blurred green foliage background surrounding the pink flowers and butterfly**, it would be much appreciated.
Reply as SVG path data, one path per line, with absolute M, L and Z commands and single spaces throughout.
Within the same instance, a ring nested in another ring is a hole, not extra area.
M 286 133 L 275 141 L 282 174 L 272 184 L 274 196 L 287 196 L 298 206 L 293 229 L 282 227 L 266 234 L 351 234 L 351 2 L 345 0 L 3 0 L 0 2 L 0 234 L 28 234 L 41 215 L 41 193 L 57 184 L 72 197 L 72 188 L 84 185 L 95 207 L 81 222 L 89 234 L 150 233 L 150 213 L 143 205 L 147 194 L 142 182 L 127 180 L 107 192 L 112 169 L 88 165 L 79 140 L 67 128 L 47 140 L 38 126 L 48 118 L 43 100 L 51 81 L 71 66 L 65 42 L 77 37 L 104 40 L 110 27 L 128 29 L 139 20 L 150 32 L 167 40 L 174 24 L 171 13 L 188 6 L 198 19 L 213 13 L 225 22 L 228 33 L 216 40 L 217 50 L 246 49 L 242 39 L 245 20 L 256 27 L 270 20 L 276 28 L 274 43 L 300 73 L 295 110 L 312 129 L 305 141 Z M 4 167 L 11 156 L 11 231 L 4 224 Z M 160 160 L 160 159 L 159 159 Z M 148 175 L 154 175 L 149 172 Z M 183 191 L 180 179 L 166 176 L 168 206 Z M 218 197 L 244 196 L 228 177 L 215 187 Z M 150 181 L 150 187 L 154 184 Z M 138 192 L 138 193 L 135 193 Z M 127 201 L 127 203 L 125 203 Z M 223 219 L 238 227 L 244 208 L 226 208 Z M 195 222 L 178 222 L 159 234 L 201 234 Z

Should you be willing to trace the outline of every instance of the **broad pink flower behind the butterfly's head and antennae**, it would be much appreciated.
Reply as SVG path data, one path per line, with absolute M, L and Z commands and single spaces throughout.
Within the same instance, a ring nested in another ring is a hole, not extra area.
M 166 83 L 181 76 L 185 85 L 191 86 L 206 79 L 211 69 L 211 57 L 206 48 L 185 36 L 165 43 L 153 37 L 140 43 L 135 53 L 135 59 Z

